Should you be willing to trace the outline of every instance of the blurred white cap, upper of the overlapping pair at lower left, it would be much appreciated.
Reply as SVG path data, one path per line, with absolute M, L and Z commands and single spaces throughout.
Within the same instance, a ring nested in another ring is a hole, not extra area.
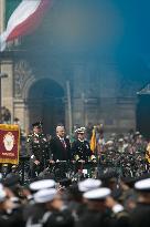
M 29 187 L 31 190 L 41 190 L 41 189 L 45 189 L 45 188 L 52 188 L 54 186 L 55 186 L 55 180 L 41 179 L 41 180 L 31 183 Z

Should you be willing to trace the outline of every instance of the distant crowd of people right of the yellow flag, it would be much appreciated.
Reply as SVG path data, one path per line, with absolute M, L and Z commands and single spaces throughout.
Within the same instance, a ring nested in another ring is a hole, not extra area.
M 98 143 L 103 168 L 114 167 L 121 176 L 140 176 L 149 172 L 149 143 L 136 132 L 132 135 L 117 137 L 113 135 L 105 144 Z

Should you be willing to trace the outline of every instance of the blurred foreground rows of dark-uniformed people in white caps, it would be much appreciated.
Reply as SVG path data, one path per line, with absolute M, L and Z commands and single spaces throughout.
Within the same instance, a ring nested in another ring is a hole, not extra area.
M 107 172 L 99 178 L 55 182 L 38 178 L 21 186 L 18 175 L 0 183 L 1 227 L 148 227 L 150 175 L 121 178 Z

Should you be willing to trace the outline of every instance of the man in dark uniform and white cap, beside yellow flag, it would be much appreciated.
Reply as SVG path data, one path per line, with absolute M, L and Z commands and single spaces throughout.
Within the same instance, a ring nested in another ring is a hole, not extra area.
M 85 127 L 76 131 L 77 140 L 72 144 L 72 154 L 76 163 L 76 171 L 82 169 L 83 165 L 88 162 L 92 151 L 88 141 L 85 138 Z

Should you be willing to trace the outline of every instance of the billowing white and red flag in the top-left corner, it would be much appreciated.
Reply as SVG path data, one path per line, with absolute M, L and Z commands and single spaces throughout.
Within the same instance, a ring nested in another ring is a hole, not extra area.
M 6 31 L 0 35 L 0 51 L 6 43 L 34 31 L 42 21 L 52 0 L 22 0 L 11 14 Z

